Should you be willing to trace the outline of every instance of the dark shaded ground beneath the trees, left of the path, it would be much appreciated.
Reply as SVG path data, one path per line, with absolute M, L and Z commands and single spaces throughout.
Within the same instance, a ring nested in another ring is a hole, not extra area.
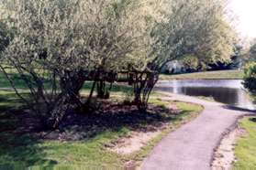
M 147 112 L 139 112 L 135 105 L 113 104 L 101 101 L 95 112 L 69 114 L 61 123 L 60 131 L 46 136 L 47 139 L 64 141 L 86 140 L 99 133 L 115 132 L 128 128 L 137 132 L 156 131 L 165 122 L 181 119 L 186 112 L 172 112 L 163 106 L 150 105 Z

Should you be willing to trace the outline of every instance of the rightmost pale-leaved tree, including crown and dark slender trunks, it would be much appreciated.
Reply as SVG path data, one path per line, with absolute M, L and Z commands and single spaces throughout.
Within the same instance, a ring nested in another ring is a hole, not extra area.
M 155 15 L 150 29 L 150 52 L 146 71 L 140 74 L 135 101 L 147 107 L 150 90 L 166 63 L 193 56 L 198 63 L 225 60 L 233 53 L 234 31 L 226 16 L 222 0 L 161 1 L 161 12 Z M 143 67 L 142 67 L 143 68 Z M 142 96 L 141 96 L 142 94 Z

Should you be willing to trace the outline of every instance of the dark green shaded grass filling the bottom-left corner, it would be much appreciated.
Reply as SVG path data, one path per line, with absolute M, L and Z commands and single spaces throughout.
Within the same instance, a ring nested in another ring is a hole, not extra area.
M 44 158 L 44 148 L 40 146 L 39 140 L 29 134 L 6 131 L 0 133 L 0 136 L 0 169 L 57 164 L 56 161 Z

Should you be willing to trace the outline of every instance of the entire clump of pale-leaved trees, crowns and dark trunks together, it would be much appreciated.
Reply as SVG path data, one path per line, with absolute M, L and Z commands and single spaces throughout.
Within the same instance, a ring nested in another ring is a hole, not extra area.
M 51 127 L 66 112 L 88 107 L 80 96 L 85 81 L 93 81 L 88 104 L 95 86 L 98 97 L 107 97 L 106 81 L 125 71 L 145 109 L 168 61 L 225 60 L 235 41 L 222 0 L 6 0 L 3 6 L 0 68 Z M 24 81 L 29 98 L 9 70 Z

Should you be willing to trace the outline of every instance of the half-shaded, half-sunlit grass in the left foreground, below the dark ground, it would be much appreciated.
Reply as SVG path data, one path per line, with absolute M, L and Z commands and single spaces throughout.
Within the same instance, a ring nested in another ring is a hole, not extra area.
M 0 144 L 0 165 L 122 167 L 122 157 L 107 151 L 104 144 L 125 133 L 127 130 L 123 128 L 116 132 L 98 134 L 93 139 L 81 142 L 39 142 L 26 135 L 17 137 L 9 134 L 5 136 L 8 138 L 6 143 Z

